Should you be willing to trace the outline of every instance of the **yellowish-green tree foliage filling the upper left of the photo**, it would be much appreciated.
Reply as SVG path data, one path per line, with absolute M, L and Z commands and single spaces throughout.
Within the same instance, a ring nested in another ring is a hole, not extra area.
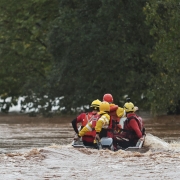
M 52 63 L 47 33 L 58 4 L 58 0 L 0 1 L 1 98 L 45 93 Z

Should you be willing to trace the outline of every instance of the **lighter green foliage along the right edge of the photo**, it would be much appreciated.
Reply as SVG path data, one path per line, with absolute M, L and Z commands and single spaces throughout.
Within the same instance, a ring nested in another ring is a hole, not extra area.
M 180 3 L 151 0 L 144 12 L 157 41 L 151 58 L 158 73 L 152 77 L 148 91 L 152 111 L 175 111 L 180 100 Z

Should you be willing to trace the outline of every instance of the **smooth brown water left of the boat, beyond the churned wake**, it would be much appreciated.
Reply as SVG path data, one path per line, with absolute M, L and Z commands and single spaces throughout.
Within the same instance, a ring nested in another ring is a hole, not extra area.
M 1 152 L 46 147 L 52 144 L 69 144 L 74 132 L 73 117 L 29 117 L 10 114 L 0 116 Z

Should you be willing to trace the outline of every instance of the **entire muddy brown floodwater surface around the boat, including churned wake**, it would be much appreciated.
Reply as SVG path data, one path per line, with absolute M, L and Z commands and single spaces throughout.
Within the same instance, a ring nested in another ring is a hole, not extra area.
M 0 115 L 0 179 L 180 179 L 180 116 L 139 113 L 145 151 L 75 149 L 74 117 Z

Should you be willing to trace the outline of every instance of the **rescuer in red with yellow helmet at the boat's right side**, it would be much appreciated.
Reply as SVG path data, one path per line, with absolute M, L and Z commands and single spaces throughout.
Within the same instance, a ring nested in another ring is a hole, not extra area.
M 136 146 L 139 139 L 144 140 L 145 128 L 142 118 L 136 115 L 135 107 L 132 102 L 124 104 L 127 119 L 124 121 L 124 129 L 121 134 L 114 136 L 113 143 L 117 147 L 119 145 L 122 149 Z

